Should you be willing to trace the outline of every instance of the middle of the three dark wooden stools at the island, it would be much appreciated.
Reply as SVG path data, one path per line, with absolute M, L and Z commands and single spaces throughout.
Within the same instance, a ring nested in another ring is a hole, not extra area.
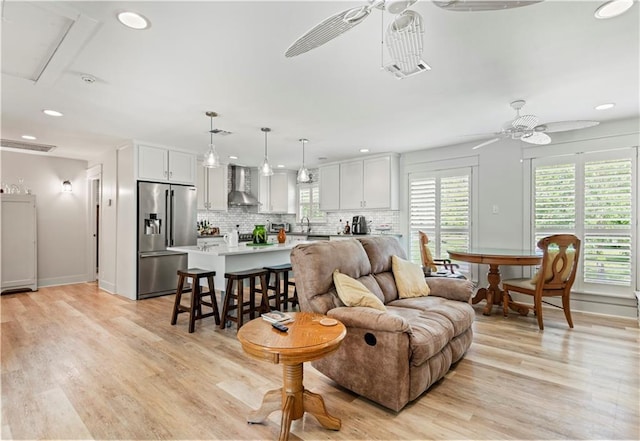
M 227 321 L 236 322 L 238 329 L 243 325 L 244 314 L 254 319 L 256 313 L 256 292 L 266 293 L 267 290 L 267 270 L 263 268 L 255 268 L 245 271 L 233 271 L 224 274 L 227 279 L 227 291 L 224 296 L 224 306 L 222 307 L 222 320 L 220 329 L 224 329 Z M 260 289 L 256 288 L 256 279 L 260 278 Z M 249 280 L 249 300 L 244 300 L 244 281 Z M 233 291 L 233 284 L 236 282 L 236 292 Z M 232 304 L 235 300 L 235 304 Z M 236 310 L 236 316 L 230 315 L 230 312 Z M 269 303 L 267 295 L 262 294 L 260 298 L 260 313 L 269 312 Z

